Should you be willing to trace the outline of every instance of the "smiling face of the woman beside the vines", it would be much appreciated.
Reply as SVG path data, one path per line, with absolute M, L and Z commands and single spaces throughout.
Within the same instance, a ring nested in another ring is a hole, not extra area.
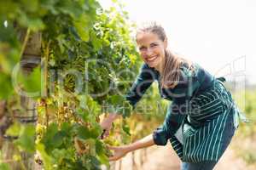
M 153 32 L 141 31 L 137 33 L 137 46 L 143 61 L 149 67 L 157 69 L 160 68 L 160 65 L 164 64 L 166 59 L 166 40 L 162 41 Z

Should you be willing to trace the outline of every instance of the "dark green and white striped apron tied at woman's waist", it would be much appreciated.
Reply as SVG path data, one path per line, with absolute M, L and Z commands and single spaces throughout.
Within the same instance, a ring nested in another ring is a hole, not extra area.
M 239 118 L 247 122 L 223 82 L 223 78 L 218 78 L 211 88 L 190 99 L 189 111 L 177 133 L 169 139 L 182 161 L 218 161 L 225 150 L 224 128 L 229 115 L 235 129 Z

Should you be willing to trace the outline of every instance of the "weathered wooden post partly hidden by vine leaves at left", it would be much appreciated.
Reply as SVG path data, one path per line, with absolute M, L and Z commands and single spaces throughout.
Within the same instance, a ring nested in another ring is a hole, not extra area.
M 40 64 L 41 60 L 41 33 L 40 32 L 30 32 L 28 29 L 19 31 L 19 39 L 22 42 L 20 69 L 22 73 L 27 76 L 33 69 Z M 21 123 L 32 123 L 36 126 L 37 123 L 37 112 L 36 112 L 36 102 L 27 96 L 20 96 L 20 104 L 25 113 L 19 114 L 20 111 L 16 111 L 15 118 Z M 14 144 L 6 138 L 3 141 L 3 159 L 4 160 L 13 160 L 13 156 L 18 150 L 15 150 Z M 32 170 L 35 169 L 34 154 L 29 154 L 22 152 L 20 162 L 9 162 L 11 169 L 19 170 L 26 169 Z

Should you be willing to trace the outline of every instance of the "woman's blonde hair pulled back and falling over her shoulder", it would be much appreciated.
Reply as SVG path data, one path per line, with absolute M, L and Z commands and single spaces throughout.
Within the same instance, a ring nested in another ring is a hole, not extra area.
M 155 21 L 143 23 L 143 25 L 138 28 L 137 34 L 140 31 L 152 32 L 163 42 L 167 38 L 163 26 L 160 26 L 160 24 Z M 193 65 L 188 59 L 184 59 L 177 54 L 173 54 L 170 49 L 166 49 L 166 62 L 160 78 L 161 88 L 174 88 L 177 86 L 181 76 L 181 71 L 179 69 L 184 63 L 188 65 L 189 69 L 193 69 Z

